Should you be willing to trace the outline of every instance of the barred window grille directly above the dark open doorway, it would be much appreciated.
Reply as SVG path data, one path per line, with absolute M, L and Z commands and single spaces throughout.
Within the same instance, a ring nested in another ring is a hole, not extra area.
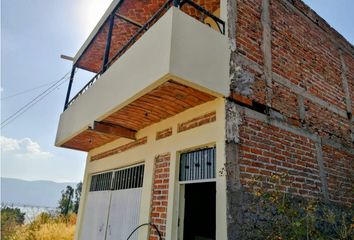
M 215 178 L 215 147 L 183 153 L 180 158 L 180 181 Z

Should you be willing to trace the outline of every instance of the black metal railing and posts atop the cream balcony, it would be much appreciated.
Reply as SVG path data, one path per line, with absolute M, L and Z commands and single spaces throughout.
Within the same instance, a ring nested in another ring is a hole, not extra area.
M 122 2 L 122 0 L 121 0 Z M 164 13 L 171 7 L 175 6 L 180 9 L 183 8 L 183 6 L 190 6 L 194 8 L 196 11 L 198 11 L 201 14 L 201 19 L 198 19 L 200 21 L 203 21 L 203 18 L 205 16 L 209 17 L 212 19 L 212 21 L 215 22 L 215 25 L 217 26 L 218 31 L 220 31 L 221 34 L 225 34 L 225 22 L 222 21 L 220 18 L 215 16 L 213 13 L 209 12 L 206 10 L 204 7 L 198 5 L 197 3 L 193 2 L 192 0 L 167 0 L 149 19 L 144 25 L 139 25 L 134 21 L 131 21 L 130 19 L 124 18 L 123 16 L 117 15 L 116 11 L 119 9 L 120 4 L 117 5 L 117 7 L 112 11 L 112 13 L 109 16 L 109 29 L 108 29 L 108 35 L 107 35 L 107 41 L 106 41 L 106 46 L 105 46 L 105 53 L 104 53 L 104 58 L 103 58 L 103 66 L 102 70 L 100 70 L 98 73 L 95 74 L 95 76 L 70 100 L 70 91 L 71 91 L 71 86 L 73 83 L 74 75 L 75 75 L 75 69 L 76 65 L 73 65 L 73 69 L 71 72 L 70 76 L 70 81 L 69 81 L 69 86 L 68 86 L 68 91 L 65 99 L 65 104 L 64 104 L 64 111 L 82 94 L 84 94 L 99 78 L 100 76 L 121 56 L 124 54 L 125 51 L 127 51 L 138 39 L 140 36 L 144 34 L 148 29 L 151 28 L 154 23 L 164 15 Z M 109 60 L 109 52 L 110 52 L 110 45 L 111 45 L 111 38 L 112 38 L 112 31 L 113 31 L 113 25 L 114 25 L 114 19 L 118 17 L 123 19 L 129 24 L 132 24 L 134 26 L 139 26 L 139 29 L 134 33 L 134 35 L 116 52 L 116 54 Z M 197 18 L 196 16 L 193 16 Z

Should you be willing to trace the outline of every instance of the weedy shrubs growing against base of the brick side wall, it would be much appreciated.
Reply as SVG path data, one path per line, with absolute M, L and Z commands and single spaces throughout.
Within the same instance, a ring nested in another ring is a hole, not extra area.
M 243 191 L 236 223 L 239 239 L 353 239 L 353 206 L 292 195 L 279 187 L 284 179 L 275 174 L 254 179 Z

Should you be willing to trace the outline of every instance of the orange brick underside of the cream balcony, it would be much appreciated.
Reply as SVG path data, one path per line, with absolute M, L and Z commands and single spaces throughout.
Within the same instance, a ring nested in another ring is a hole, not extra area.
M 100 121 L 136 132 L 189 108 L 215 99 L 208 93 L 169 80 Z M 121 136 L 89 128 L 62 146 L 82 151 L 112 142 Z

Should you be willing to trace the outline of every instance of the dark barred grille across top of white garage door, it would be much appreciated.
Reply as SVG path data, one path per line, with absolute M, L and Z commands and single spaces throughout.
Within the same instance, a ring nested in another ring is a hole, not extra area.
M 90 192 L 140 188 L 143 178 L 144 165 L 96 174 L 91 177 Z

